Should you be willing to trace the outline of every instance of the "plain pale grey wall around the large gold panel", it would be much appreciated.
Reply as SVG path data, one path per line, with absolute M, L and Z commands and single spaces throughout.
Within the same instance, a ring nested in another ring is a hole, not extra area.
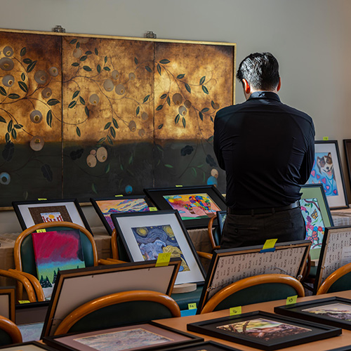
M 227 41 L 237 43 L 237 64 L 251 52 L 270 51 L 281 67 L 282 102 L 312 116 L 316 140 L 337 139 L 345 165 L 350 14 L 349 0 L 1 0 L 0 26 L 51 31 L 62 25 L 66 32 L 126 37 L 151 30 L 161 39 Z M 350 195 L 346 169 L 344 175 Z M 9 221 L 0 213 L 0 223 Z

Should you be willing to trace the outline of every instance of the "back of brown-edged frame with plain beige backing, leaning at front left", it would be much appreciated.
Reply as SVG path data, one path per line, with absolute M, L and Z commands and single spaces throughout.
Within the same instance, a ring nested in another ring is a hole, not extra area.
M 60 321 L 69 312 L 100 296 L 130 290 L 152 290 L 171 296 L 180 260 L 171 259 L 169 265 L 164 267 L 155 267 L 155 263 L 152 260 L 86 267 L 81 270 L 60 270 L 41 338 L 53 335 Z

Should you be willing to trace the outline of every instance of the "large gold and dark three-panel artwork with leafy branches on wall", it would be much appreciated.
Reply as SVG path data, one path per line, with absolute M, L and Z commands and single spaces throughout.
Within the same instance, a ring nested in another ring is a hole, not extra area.
M 224 192 L 213 119 L 234 102 L 234 63 L 234 44 L 2 32 L 0 206 Z

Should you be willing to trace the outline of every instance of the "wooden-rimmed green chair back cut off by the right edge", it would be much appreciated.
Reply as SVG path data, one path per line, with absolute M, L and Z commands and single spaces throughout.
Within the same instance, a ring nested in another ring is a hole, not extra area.
M 317 295 L 322 293 L 336 293 L 351 289 L 351 263 L 343 265 L 327 277 L 319 287 Z

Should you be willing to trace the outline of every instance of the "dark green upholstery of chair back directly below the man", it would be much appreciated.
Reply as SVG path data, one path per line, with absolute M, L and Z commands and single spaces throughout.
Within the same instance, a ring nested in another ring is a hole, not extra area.
M 289 296 L 295 296 L 297 292 L 292 286 L 281 283 L 267 283 L 251 286 L 239 290 L 220 302 L 214 311 L 226 308 L 251 305 L 252 303 L 264 303 L 273 300 L 282 300 Z

